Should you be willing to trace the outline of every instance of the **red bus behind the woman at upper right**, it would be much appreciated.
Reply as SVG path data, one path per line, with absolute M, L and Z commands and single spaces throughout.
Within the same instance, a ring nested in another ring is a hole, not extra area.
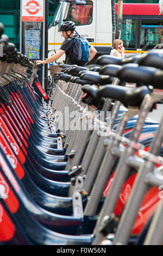
M 163 15 L 159 14 L 159 4 L 123 3 L 122 40 L 126 53 L 143 53 L 163 42 Z

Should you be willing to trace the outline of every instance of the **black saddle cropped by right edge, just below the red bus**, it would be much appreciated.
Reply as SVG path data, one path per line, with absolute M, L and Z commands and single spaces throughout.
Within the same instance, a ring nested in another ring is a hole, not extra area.
M 153 50 L 144 53 L 139 59 L 138 64 L 140 66 L 152 66 L 154 68 L 163 69 L 163 51 Z

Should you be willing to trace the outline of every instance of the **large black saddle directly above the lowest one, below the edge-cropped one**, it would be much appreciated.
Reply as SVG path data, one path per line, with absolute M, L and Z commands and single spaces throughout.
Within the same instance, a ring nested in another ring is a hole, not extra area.
M 155 68 L 130 63 L 123 65 L 122 69 L 117 71 L 116 77 L 129 83 L 137 83 L 139 86 L 143 84 L 153 86 L 155 72 Z

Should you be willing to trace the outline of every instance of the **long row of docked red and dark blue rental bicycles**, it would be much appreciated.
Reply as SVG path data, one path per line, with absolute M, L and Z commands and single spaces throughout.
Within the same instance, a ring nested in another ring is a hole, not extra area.
M 0 245 L 162 245 L 162 51 L 61 64 L 49 97 L 0 31 Z

